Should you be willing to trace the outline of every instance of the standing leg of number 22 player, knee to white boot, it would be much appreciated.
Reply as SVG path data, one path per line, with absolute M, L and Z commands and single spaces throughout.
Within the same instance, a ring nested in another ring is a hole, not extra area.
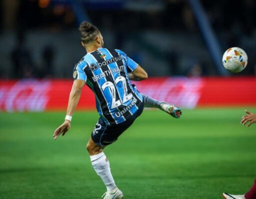
M 123 199 L 123 193 L 115 184 L 110 171 L 109 161 L 103 152 L 103 148 L 90 138 L 87 143 L 87 150 L 90 154 L 94 170 L 106 185 L 107 192 L 103 195 L 105 196 L 104 199 Z

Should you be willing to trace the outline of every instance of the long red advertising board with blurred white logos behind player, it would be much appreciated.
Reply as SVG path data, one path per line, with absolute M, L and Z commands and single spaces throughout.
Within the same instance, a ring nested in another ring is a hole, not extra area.
M 65 110 L 72 80 L 0 81 L 0 111 Z M 137 89 L 181 108 L 256 106 L 256 77 L 149 78 Z M 77 109 L 95 108 L 94 93 L 83 89 Z

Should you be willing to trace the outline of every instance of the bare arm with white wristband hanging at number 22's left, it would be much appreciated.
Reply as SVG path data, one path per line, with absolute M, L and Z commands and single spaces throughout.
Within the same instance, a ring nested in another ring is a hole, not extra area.
M 66 115 L 69 115 L 69 116 L 73 115 L 75 108 L 79 102 L 82 88 L 84 85 L 85 85 L 85 81 L 83 80 L 75 80 L 73 82 L 73 85 L 69 94 Z M 60 135 L 63 135 L 63 136 L 65 135 L 65 133 L 70 128 L 70 122 L 71 120 L 65 119 L 64 123 L 55 130 L 53 134 L 54 140 L 56 140 Z

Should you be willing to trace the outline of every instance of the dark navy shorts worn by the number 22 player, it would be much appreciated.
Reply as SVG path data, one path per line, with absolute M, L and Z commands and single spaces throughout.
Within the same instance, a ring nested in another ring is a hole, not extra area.
M 116 142 L 118 137 L 127 130 L 135 119 L 143 112 L 144 103 L 140 104 L 139 109 L 135 114 L 128 117 L 128 119 L 119 124 L 107 124 L 101 117 L 92 132 L 92 140 L 100 146 L 106 146 Z

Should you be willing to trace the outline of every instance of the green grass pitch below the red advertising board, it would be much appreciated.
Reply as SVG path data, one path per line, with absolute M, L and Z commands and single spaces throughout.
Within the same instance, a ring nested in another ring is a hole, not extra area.
M 251 108 L 256 112 L 255 108 Z M 174 119 L 145 110 L 105 154 L 125 199 L 221 199 L 245 193 L 256 176 L 256 124 L 244 108 L 184 110 Z M 76 112 L 54 141 L 65 113 L 0 114 L 0 199 L 100 199 L 86 143 L 96 112 Z

